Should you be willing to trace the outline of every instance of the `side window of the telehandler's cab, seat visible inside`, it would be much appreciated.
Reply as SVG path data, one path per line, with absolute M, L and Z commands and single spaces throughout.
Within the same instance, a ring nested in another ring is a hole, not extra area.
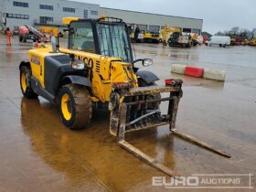
M 73 22 L 70 24 L 73 34 L 69 37 L 69 48 L 95 53 L 95 42 L 90 22 Z

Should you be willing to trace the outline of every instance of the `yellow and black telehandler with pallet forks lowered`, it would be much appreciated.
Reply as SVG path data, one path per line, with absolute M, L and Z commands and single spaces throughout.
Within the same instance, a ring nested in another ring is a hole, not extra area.
M 108 104 L 111 111 L 110 133 L 118 144 L 148 164 L 174 176 L 172 170 L 124 140 L 128 132 L 170 125 L 171 133 L 207 147 L 219 155 L 227 155 L 208 144 L 175 129 L 178 102 L 182 97 L 182 80 L 159 80 L 150 71 L 135 67 L 151 59 L 133 59 L 128 28 L 123 20 L 101 16 L 99 19 L 66 17 L 69 46 L 52 45 L 28 51 L 28 61 L 20 63 L 20 85 L 23 95 L 38 95 L 59 106 L 62 122 L 71 129 L 85 128 L 91 122 L 93 107 Z M 162 92 L 168 96 L 161 98 Z M 160 112 L 161 101 L 168 101 L 166 114 Z

